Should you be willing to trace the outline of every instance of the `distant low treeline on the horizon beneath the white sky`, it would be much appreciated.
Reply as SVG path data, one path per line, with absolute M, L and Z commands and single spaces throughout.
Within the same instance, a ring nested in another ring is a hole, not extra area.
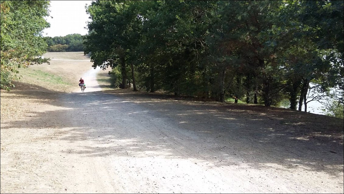
M 47 52 L 76 52 L 83 51 L 83 36 L 81 34 L 68 34 L 64 37 L 44 37 L 48 44 Z

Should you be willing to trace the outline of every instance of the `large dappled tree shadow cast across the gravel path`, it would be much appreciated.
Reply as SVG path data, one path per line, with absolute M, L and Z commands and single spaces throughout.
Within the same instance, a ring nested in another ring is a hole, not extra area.
M 178 158 L 183 152 L 190 159 L 216 166 L 284 166 L 290 171 L 304 168 L 329 174 L 343 172 L 343 120 L 337 118 L 126 90 L 60 95 L 64 103 L 52 103 L 63 109 L 36 113 L 30 122 L 1 122 L 5 124 L 1 130 L 44 130 L 52 118 L 66 118 L 49 126 L 64 130 L 58 140 L 89 140 L 99 145 L 81 146 L 72 152 L 81 156 L 146 157 L 154 152 Z M 76 122 L 80 120 L 85 122 Z M 152 133 L 156 138 L 152 139 Z

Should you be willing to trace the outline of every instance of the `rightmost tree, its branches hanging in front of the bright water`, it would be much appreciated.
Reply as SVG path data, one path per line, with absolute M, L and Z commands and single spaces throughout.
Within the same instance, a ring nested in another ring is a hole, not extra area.
M 313 95 L 312 100 L 321 98 L 337 98 L 343 103 L 343 18 L 344 1 L 289 1 L 290 9 L 295 14 L 290 14 L 292 21 L 298 31 L 294 38 L 299 42 L 308 40 L 306 47 L 309 51 L 309 61 L 311 64 L 303 68 L 302 87 L 299 100 L 299 110 L 301 110 L 302 100 L 305 111 L 307 111 L 307 91 L 309 84 L 319 95 Z M 315 53 L 315 52 L 316 53 Z M 299 59 L 303 59 L 300 57 Z M 305 71 L 304 71 L 305 70 Z M 313 80 L 313 81 L 312 81 Z M 329 91 L 335 89 L 338 95 L 330 94 Z M 337 96 L 337 97 L 336 97 Z

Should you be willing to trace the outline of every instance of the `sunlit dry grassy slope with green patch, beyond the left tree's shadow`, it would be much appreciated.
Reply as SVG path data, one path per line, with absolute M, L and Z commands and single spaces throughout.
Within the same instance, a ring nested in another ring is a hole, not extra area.
M 92 66 L 89 61 L 63 61 L 89 60 L 83 52 L 48 52 L 44 57 L 62 60 L 51 60 L 51 64 L 32 65 L 26 69 L 19 69 L 22 78 L 13 82 L 15 89 L 69 92 L 75 88 L 80 74 L 91 69 Z

